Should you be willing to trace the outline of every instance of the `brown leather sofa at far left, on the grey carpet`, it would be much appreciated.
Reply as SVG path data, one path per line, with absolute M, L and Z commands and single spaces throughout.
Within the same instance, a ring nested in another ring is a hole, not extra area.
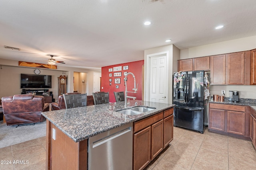
M 6 125 L 42 122 L 46 118 L 41 113 L 49 111 L 49 104 L 44 103 L 44 96 L 34 96 L 32 94 L 2 97 L 2 107 Z

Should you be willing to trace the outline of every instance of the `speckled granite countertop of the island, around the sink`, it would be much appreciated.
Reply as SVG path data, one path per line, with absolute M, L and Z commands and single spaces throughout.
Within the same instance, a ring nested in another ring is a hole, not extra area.
M 124 115 L 116 110 L 124 108 L 124 102 L 99 104 L 71 109 L 42 112 L 51 123 L 75 142 L 120 127 L 126 123 L 140 120 L 165 109 L 172 108 L 173 104 L 130 100 L 128 107 L 138 106 L 155 107 L 156 109 L 139 115 Z

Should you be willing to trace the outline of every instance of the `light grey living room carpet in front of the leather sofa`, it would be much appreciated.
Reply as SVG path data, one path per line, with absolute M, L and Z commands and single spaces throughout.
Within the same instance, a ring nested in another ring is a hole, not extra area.
M 46 136 L 46 121 L 35 125 L 7 126 L 0 121 L 0 148 Z

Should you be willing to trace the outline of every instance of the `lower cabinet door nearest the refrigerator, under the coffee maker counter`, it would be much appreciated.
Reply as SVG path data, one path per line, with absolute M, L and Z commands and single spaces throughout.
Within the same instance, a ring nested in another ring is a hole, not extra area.
M 209 129 L 224 132 L 225 111 L 209 109 Z

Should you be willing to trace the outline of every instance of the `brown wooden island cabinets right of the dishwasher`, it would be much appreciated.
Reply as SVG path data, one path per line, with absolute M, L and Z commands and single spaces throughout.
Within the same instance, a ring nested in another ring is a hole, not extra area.
M 144 169 L 173 139 L 173 108 L 134 122 L 133 169 Z

